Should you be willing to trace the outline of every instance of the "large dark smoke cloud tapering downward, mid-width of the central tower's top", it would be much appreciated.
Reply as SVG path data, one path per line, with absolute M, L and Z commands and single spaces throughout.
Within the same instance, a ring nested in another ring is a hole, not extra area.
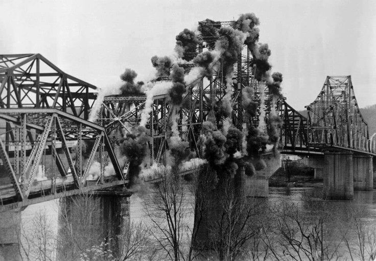
M 222 53 L 223 73 L 228 75 L 233 70 L 233 64 L 238 61 L 238 55 L 242 53 L 242 35 L 240 31 L 230 27 L 222 27 L 218 33 L 219 39 L 216 41 L 216 49 Z

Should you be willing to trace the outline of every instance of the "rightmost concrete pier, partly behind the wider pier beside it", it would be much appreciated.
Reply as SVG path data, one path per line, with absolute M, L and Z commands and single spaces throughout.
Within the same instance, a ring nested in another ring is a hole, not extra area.
M 354 190 L 373 190 L 372 156 L 353 155 Z

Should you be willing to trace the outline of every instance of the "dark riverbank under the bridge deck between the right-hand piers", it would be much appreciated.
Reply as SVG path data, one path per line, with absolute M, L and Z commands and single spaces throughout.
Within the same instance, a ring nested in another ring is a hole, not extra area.
M 323 180 L 314 178 L 314 169 L 304 165 L 303 160 L 284 161 L 270 178 L 269 187 L 322 187 Z

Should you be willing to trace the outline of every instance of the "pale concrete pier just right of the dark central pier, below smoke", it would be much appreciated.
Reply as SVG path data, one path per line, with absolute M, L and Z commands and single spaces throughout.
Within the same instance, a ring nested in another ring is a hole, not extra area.
M 268 197 L 269 177 L 281 167 L 281 157 L 273 153 L 263 155 L 266 167 L 252 176 L 245 175 L 245 195 L 247 197 Z

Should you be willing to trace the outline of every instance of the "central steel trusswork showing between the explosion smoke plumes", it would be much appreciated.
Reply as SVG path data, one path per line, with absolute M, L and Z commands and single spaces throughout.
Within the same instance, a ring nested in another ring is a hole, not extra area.
M 205 22 L 199 22 L 204 24 Z M 235 21 L 210 22 L 206 24 L 218 31 L 221 26 L 228 25 L 233 28 L 238 24 Z M 185 56 L 195 57 L 197 53 L 205 50 L 213 50 L 218 35 L 197 36 L 201 41 L 195 53 L 185 54 Z M 265 110 L 266 116 L 271 110 L 279 111 L 281 102 L 272 99 L 265 84 L 259 84 L 254 79 L 255 65 L 246 45 L 243 52 L 238 57 L 238 62 L 234 64 L 233 73 L 233 94 L 231 123 L 242 129 L 247 124 L 257 126 L 261 110 Z M 189 73 L 196 65 L 192 63 L 179 64 L 185 73 Z M 156 81 L 171 81 L 169 77 L 159 77 Z M 178 110 L 178 131 L 184 141 L 189 141 L 191 149 L 200 156 L 200 145 L 198 144 L 202 122 L 211 120 L 218 128 L 223 125 L 223 117 L 216 116 L 215 105 L 225 96 L 225 76 L 222 67 L 215 66 L 212 77 L 200 77 L 190 83 L 186 83 L 186 92 L 183 97 L 182 106 Z M 257 102 L 258 109 L 255 117 L 245 117 L 242 106 L 242 90 L 245 87 L 253 89 L 252 99 Z M 261 94 L 264 97 L 264 106 L 261 106 Z M 127 132 L 132 132 L 133 128 L 139 125 L 140 115 L 145 108 L 146 96 L 107 96 L 103 100 L 99 122 L 106 127 L 106 131 L 113 145 L 119 145 L 120 140 Z M 272 109 L 274 108 L 274 109 Z M 149 115 L 147 129 L 150 132 L 150 156 L 153 162 L 163 161 L 164 152 L 169 148 L 169 137 L 171 136 L 172 107 L 169 102 L 169 94 L 161 94 L 153 99 L 152 112 Z M 265 119 L 267 121 L 267 117 Z M 245 124 L 245 125 L 244 125 Z

